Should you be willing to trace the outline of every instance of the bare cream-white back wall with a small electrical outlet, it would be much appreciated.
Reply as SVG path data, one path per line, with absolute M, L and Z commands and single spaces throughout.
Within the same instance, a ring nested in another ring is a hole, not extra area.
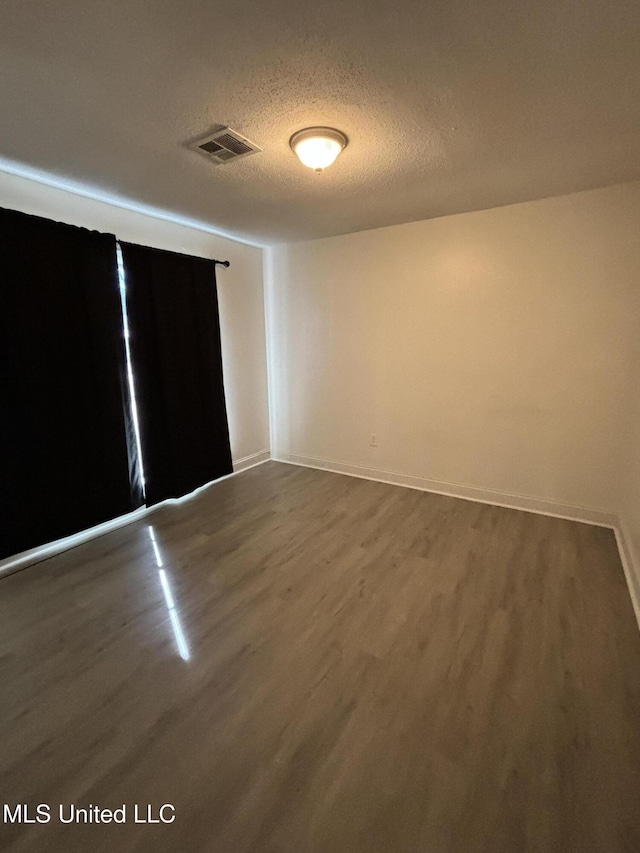
M 621 511 L 640 184 L 267 252 L 275 456 Z

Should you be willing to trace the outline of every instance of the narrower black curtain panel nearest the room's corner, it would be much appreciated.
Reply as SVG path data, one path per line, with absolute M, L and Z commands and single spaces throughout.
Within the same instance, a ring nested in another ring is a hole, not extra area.
M 150 506 L 233 470 L 215 264 L 120 245 Z

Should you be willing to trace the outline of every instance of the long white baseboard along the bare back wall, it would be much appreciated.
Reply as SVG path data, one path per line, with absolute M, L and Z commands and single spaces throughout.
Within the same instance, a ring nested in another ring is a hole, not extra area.
M 444 483 L 440 480 L 430 480 L 425 477 L 414 477 L 411 474 L 399 474 L 395 471 L 381 471 L 376 468 L 364 468 L 360 465 L 350 465 L 345 462 L 334 462 L 319 459 L 315 456 L 297 456 L 293 453 L 272 453 L 271 458 L 276 462 L 286 462 L 290 465 L 301 465 L 304 468 L 318 468 L 322 471 L 333 471 L 336 474 L 348 474 L 350 477 L 360 477 L 363 480 L 375 480 L 378 483 L 389 483 L 392 486 L 407 486 L 421 492 L 433 492 L 452 498 L 461 498 L 476 503 L 504 506 L 508 509 L 519 509 L 524 512 L 535 512 L 539 515 L 551 515 L 555 518 L 565 518 L 569 521 L 581 521 L 598 527 L 615 528 L 618 516 L 613 512 L 590 507 L 572 506 L 570 504 L 554 503 L 540 498 L 529 498 L 525 495 L 514 495 L 509 492 L 497 492 L 488 489 L 477 489 L 473 486 L 461 486 L 457 483 Z

